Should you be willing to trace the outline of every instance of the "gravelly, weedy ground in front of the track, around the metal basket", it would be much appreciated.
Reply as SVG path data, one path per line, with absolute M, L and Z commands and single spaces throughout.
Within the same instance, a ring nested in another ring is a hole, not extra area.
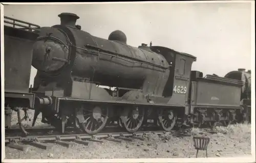
M 38 124 L 38 123 L 37 123 Z M 208 157 L 234 157 L 251 154 L 251 125 L 234 124 L 217 127 L 217 133 L 193 128 L 189 137 L 175 137 L 173 134 L 151 134 L 145 141 L 116 143 L 92 143 L 89 146 L 76 145 L 71 148 L 53 145 L 52 150 L 42 150 L 29 146 L 28 152 L 6 147 L 7 159 L 90 159 L 90 158 L 192 158 L 196 157 L 193 137 L 196 135 L 210 138 Z M 199 151 L 198 157 L 205 157 Z

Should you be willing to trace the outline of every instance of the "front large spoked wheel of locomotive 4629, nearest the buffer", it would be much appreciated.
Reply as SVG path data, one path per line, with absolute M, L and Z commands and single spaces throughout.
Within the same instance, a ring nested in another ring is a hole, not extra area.
M 109 118 L 109 109 L 95 106 L 92 110 L 84 109 L 83 117 L 85 121 L 81 124 L 88 134 L 99 133 Z

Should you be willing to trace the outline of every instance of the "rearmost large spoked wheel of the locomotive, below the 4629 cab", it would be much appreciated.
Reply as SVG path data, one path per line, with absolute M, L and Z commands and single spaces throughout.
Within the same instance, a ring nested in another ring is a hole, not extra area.
M 177 114 L 173 110 L 162 109 L 158 116 L 160 126 L 165 131 L 170 131 L 174 128 L 177 120 Z

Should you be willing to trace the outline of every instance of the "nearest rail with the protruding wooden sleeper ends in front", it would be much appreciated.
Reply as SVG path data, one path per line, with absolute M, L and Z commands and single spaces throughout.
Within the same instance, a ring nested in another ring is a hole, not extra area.
M 28 145 L 41 149 L 52 149 L 52 145 L 46 143 L 56 143 L 67 148 L 75 144 L 90 145 L 93 142 L 103 143 L 102 139 L 106 141 L 113 141 L 122 143 L 123 141 L 132 142 L 135 139 L 144 141 L 144 135 L 147 134 L 162 134 L 165 131 L 140 131 L 136 133 L 130 132 L 116 132 L 116 133 L 99 133 L 96 135 L 89 134 L 52 134 L 52 135 L 31 135 L 27 137 L 6 137 L 5 143 L 7 147 L 15 148 L 22 151 L 27 151 Z

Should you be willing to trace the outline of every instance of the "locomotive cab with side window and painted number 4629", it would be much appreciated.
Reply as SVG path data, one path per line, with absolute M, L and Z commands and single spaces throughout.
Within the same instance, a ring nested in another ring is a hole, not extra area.
M 161 53 L 169 64 L 169 76 L 162 96 L 172 96 L 169 103 L 185 105 L 191 66 L 196 61 L 196 57 L 161 46 L 153 46 L 152 50 Z

